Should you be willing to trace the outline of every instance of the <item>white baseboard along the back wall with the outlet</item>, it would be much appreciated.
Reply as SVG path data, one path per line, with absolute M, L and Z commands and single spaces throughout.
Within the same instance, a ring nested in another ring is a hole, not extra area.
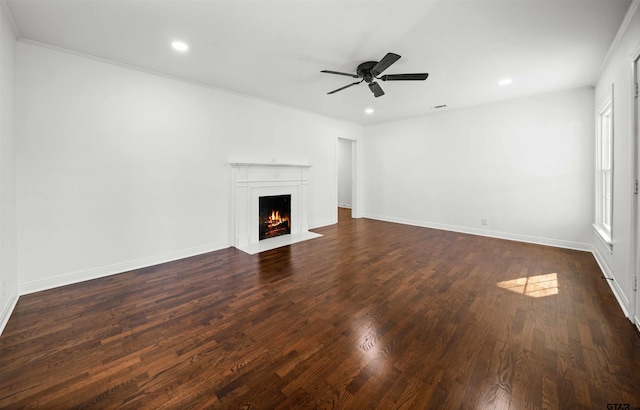
M 376 219 L 379 221 L 395 222 L 404 225 L 420 226 L 423 228 L 441 229 L 444 231 L 467 233 L 470 235 L 487 236 L 490 238 L 507 239 L 510 241 L 527 242 L 536 245 L 547 245 L 556 248 L 574 249 L 578 251 L 591 252 L 593 246 L 589 243 L 565 241 L 561 239 L 541 238 L 537 236 L 521 235 L 516 233 L 491 231 L 488 229 L 476 229 L 466 226 L 447 225 L 428 221 L 415 221 L 404 218 L 387 217 L 375 214 L 365 214 L 365 218 Z

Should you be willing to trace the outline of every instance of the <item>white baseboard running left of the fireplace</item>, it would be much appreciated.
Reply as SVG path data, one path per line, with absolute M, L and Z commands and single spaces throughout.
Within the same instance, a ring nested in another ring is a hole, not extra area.
M 20 295 L 27 295 L 29 293 L 40 292 L 43 290 L 57 288 L 59 286 L 71 285 L 73 283 L 84 282 L 86 280 L 102 278 L 105 276 L 116 275 L 118 273 L 128 272 L 134 269 L 146 268 L 148 266 L 171 262 L 182 258 L 188 258 L 190 256 L 213 252 L 228 247 L 228 244 L 201 245 L 189 249 L 183 249 L 180 251 L 169 252 L 163 255 L 155 255 L 132 261 L 116 263 L 113 265 L 100 266 L 97 268 L 71 272 L 42 280 L 21 283 L 19 286 L 19 293 Z

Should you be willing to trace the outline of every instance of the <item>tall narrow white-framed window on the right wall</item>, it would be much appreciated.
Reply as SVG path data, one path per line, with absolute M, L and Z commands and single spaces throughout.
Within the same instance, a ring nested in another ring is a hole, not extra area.
M 611 246 L 613 220 L 613 94 L 596 115 L 596 220 L 594 227 Z

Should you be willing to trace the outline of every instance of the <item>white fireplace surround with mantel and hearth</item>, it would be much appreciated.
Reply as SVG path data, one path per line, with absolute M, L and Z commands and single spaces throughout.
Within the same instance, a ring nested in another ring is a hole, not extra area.
M 232 245 L 251 255 L 322 236 L 309 232 L 307 189 L 311 165 L 231 162 Z M 291 195 L 291 234 L 258 239 L 261 196 Z

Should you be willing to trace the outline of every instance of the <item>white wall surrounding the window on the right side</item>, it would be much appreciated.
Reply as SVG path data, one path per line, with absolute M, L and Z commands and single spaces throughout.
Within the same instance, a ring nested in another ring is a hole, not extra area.
M 617 47 L 609 55 L 595 87 L 594 107 L 597 110 L 614 87 L 614 171 L 613 171 L 613 249 L 592 234 L 594 254 L 613 279 L 610 283 L 627 316 L 632 314 L 632 212 L 633 212 L 633 84 L 631 56 L 640 51 L 640 9 L 632 4 L 627 15 L 629 24 Z M 621 31 L 622 33 L 622 31 Z M 594 117 L 595 118 L 595 117 Z

